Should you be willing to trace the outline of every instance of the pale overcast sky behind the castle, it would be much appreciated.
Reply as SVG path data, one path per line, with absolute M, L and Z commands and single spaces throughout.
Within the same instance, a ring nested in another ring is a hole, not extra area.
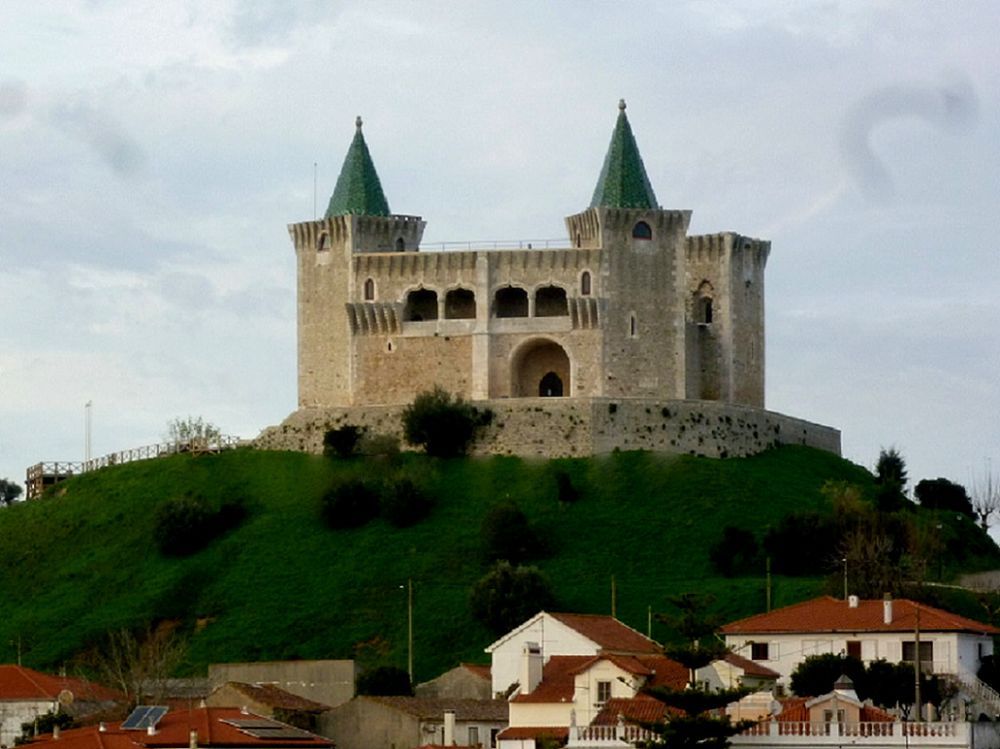
M 1000 3 L 4 0 L 0 477 L 296 405 L 286 225 L 362 115 L 425 239 L 564 237 L 619 98 L 665 208 L 770 239 L 767 406 L 1000 467 Z

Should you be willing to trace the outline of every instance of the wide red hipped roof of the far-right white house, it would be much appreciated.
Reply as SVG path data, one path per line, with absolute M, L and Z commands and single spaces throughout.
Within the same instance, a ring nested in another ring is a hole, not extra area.
M 799 632 L 911 632 L 917 624 L 926 632 L 972 632 L 996 635 L 1000 629 L 964 616 L 917 604 L 906 598 L 892 602 L 892 622 L 883 621 L 883 602 L 863 600 L 857 608 L 846 601 L 823 596 L 758 614 L 722 627 L 723 634 L 779 634 Z

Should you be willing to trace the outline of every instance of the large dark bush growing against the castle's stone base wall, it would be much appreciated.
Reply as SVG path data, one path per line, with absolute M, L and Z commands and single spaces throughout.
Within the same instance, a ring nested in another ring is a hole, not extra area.
M 403 410 L 403 434 L 411 445 L 419 445 L 428 455 L 454 458 L 465 455 L 476 430 L 492 419 L 492 412 L 480 412 L 443 388 L 420 393 Z

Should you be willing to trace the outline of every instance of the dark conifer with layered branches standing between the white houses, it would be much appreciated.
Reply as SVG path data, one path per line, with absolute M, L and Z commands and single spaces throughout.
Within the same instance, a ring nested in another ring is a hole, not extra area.
M 745 730 L 753 721 L 729 719 L 720 709 L 749 693 L 749 689 L 723 689 L 710 692 L 699 684 L 695 673 L 725 655 L 725 646 L 715 637 L 716 622 L 705 608 L 709 599 L 686 593 L 670 599 L 676 613 L 659 614 L 657 618 L 684 638 L 682 644 L 666 649 L 669 658 L 688 669 L 686 689 L 653 687 L 643 690 L 673 712 L 659 723 L 645 727 L 655 734 L 652 746 L 668 749 L 725 749 L 729 737 Z

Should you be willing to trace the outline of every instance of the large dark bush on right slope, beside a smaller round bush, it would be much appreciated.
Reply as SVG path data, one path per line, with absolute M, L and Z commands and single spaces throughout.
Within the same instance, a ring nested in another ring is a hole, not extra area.
M 840 557 L 839 541 L 830 515 L 794 512 L 764 534 L 764 550 L 779 575 L 822 575 Z

